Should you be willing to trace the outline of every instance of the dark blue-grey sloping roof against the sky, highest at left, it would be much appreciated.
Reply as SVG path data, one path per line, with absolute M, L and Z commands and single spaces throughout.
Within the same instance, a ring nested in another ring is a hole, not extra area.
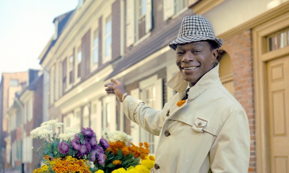
M 54 46 L 55 42 L 58 40 L 58 37 L 61 35 L 62 31 L 65 29 L 65 27 L 67 26 L 68 22 L 70 21 L 70 19 L 72 18 L 73 14 L 75 13 L 75 10 L 71 10 L 70 12 L 67 12 L 65 14 L 62 14 L 60 16 L 57 16 L 56 18 L 54 18 L 53 23 L 58 20 L 58 32 L 57 32 L 57 38 L 55 40 L 50 40 L 50 44 L 47 48 L 47 50 L 45 51 L 45 54 L 43 55 L 43 57 L 41 58 L 39 64 L 42 64 L 42 62 L 44 61 L 45 57 L 47 56 L 48 52 L 50 51 L 50 49 Z

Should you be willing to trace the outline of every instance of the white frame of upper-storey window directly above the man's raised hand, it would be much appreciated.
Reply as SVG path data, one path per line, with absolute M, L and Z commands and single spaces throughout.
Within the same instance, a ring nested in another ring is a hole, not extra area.
M 105 44 L 106 44 L 105 40 L 106 40 L 107 37 L 110 37 L 110 36 L 112 37 L 112 28 L 111 28 L 111 33 L 108 34 L 108 35 L 105 35 L 106 19 L 107 19 L 109 16 L 111 16 L 111 22 L 112 22 L 112 12 L 111 12 L 111 8 L 108 9 L 108 11 L 107 11 L 105 14 L 103 14 L 103 17 L 102 17 L 102 57 L 101 57 L 101 59 L 102 59 L 102 64 L 104 64 L 104 63 L 106 63 L 106 62 L 108 62 L 108 61 L 110 61 L 110 60 L 112 59 L 112 46 L 110 47 L 110 55 L 107 56 L 107 57 L 105 57 L 105 49 L 106 49 L 106 48 L 105 48 Z

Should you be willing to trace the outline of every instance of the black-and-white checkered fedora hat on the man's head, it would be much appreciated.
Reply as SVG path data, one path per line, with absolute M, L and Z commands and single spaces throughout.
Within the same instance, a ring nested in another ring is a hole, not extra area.
M 217 38 L 212 24 L 201 15 L 184 17 L 181 22 L 179 34 L 176 40 L 173 40 L 168 46 L 173 50 L 176 50 L 177 44 L 185 44 L 190 42 L 198 42 L 202 40 L 213 40 L 218 44 L 217 48 L 220 48 L 223 44 L 223 40 Z

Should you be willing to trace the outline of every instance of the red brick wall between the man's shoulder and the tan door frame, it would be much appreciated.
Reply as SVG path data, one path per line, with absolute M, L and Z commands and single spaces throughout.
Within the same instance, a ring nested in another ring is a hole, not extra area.
M 224 40 L 222 46 L 232 61 L 235 97 L 246 110 L 251 134 L 249 172 L 255 172 L 255 119 L 251 30 Z

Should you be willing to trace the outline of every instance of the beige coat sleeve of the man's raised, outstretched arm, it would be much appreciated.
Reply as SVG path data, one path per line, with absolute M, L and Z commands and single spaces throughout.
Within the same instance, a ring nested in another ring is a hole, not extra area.
M 128 95 L 123 101 L 123 111 L 127 118 L 137 123 L 146 131 L 159 136 L 168 110 L 166 103 L 160 111 L 146 106 L 143 101 Z

